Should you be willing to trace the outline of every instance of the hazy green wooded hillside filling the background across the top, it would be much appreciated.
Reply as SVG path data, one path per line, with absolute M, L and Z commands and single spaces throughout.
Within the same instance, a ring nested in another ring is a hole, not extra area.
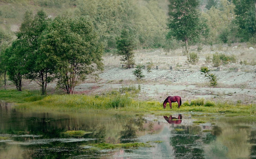
M 207 37 L 190 41 L 189 45 L 255 42 L 255 8 L 253 2 L 244 0 L 200 1 L 201 24 L 207 26 Z M 182 2 L 182 1 L 181 1 Z M 234 3 L 233 3 L 234 2 Z M 88 16 L 104 42 L 105 50 L 116 47 L 116 37 L 122 28 L 134 35 L 137 48 L 168 48 L 180 46 L 173 38 L 166 41 L 169 32 L 169 6 L 172 0 L 2 0 L 0 1 L 0 33 L 14 35 L 23 22 L 25 11 L 34 14 L 43 9 L 56 17 L 62 12 Z M 236 7 L 234 4 L 237 4 Z M 241 13 L 247 9 L 246 13 Z M 254 12 L 254 14 L 253 14 Z M 239 19 L 236 19 L 239 14 Z M 171 39 L 171 40 L 170 40 Z

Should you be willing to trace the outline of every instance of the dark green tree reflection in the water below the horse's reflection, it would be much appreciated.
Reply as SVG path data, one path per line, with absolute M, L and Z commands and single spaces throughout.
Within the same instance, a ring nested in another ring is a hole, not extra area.
M 197 130 L 198 128 L 183 125 L 176 128 L 185 130 L 173 131 L 175 135 L 170 138 L 175 158 L 204 158 L 202 143 L 198 141 L 200 136 L 190 133 L 192 129 Z

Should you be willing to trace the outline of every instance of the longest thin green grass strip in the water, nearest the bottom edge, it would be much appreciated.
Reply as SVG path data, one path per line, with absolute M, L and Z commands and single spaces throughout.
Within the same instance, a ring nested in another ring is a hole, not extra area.
M 111 143 L 99 143 L 99 144 L 90 144 L 88 146 L 92 146 L 94 149 L 129 149 L 129 148 L 138 148 L 138 147 L 152 147 L 150 144 L 146 143 L 118 143 L 118 144 L 111 144 Z

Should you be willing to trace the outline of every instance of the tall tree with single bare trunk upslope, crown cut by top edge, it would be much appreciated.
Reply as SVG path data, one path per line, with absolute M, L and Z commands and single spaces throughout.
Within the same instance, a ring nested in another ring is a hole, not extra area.
M 186 44 L 188 54 L 188 41 L 196 39 L 202 34 L 202 25 L 199 18 L 198 0 L 169 0 L 169 29 L 167 37 L 174 36 Z

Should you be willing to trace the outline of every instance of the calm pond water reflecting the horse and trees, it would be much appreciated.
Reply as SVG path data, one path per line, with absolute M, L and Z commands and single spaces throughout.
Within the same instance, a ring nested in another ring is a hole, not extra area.
M 255 120 L 214 117 L 194 125 L 185 114 L 136 116 L 29 112 L 0 107 L 0 158 L 256 158 Z M 177 118 L 170 120 L 170 118 Z M 177 131 L 183 129 L 182 131 Z M 68 136 L 67 130 L 93 132 Z M 207 132 L 205 132 L 205 131 Z M 91 143 L 148 142 L 154 147 L 91 150 Z M 156 143 L 152 141 L 163 141 Z

